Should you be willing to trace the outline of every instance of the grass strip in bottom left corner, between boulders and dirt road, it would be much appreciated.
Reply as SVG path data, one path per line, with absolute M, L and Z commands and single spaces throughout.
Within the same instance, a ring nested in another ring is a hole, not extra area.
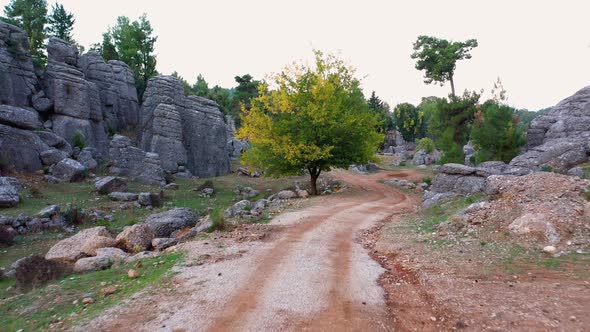
M 52 322 L 63 322 L 60 329 L 73 326 L 83 320 L 95 317 L 105 309 L 140 291 L 148 285 L 166 285 L 170 268 L 182 259 L 181 253 L 171 253 L 161 257 L 146 259 L 141 267 L 134 264 L 113 267 L 109 270 L 75 274 L 59 281 L 37 288 L 29 293 L 14 295 L 6 288 L 11 281 L 0 282 L 0 331 L 39 331 L 49 328 Z M 140 277 L 131 279 L 127 271 L 133 268 Z M 101 286 L 101 283 L 106 283 Z M 101 288 L 116 286 L 117 292 L 103 295 Z M 88 293 L 94 303 L 82 304 Z M 76 304 L 74 304 L 77 301 Z M 23 314 L 25 309 L 30 311 Z

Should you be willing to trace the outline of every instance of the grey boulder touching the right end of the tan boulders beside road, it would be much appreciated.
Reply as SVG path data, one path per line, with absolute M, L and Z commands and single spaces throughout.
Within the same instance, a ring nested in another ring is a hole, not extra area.
M 198 214 L 189 208 L 176 208 L 155 213 L 145 219 L 145 223 L 154 232 L 155 237 L 170 237 L 173 232 L 192 227 L 198 221 Z

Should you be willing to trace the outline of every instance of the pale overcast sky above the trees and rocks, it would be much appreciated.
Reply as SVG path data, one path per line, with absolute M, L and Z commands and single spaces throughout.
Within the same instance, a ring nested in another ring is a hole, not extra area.
M 538 110 L 590 85 L 588 0 L 60 3 L 74 13 L 74 38 L 86 47 L 101 41 L 117 16 L 146 13 L 158 36 L 158 71 L 177 71 L 190 83 L 202 74 L 210 87 L 235 86 L 234 76 L 246 73 L 264 78 L 293 61 L 311 60 L 319 49 L 354 66 L 365 95 L 374 90 L 392 106 L 444 97 L 448 84 L 426 85 L 414 68 L 410 54 L 419 35 L 478 40 L 473 58 L 457 63 L 457 91 L 484 89 L 488 97 L 500 78 L 508 104 Z

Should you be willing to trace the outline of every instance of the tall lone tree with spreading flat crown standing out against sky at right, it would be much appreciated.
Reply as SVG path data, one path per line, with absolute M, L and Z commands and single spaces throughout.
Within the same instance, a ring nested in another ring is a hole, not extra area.
M 443 85 L 451 83 L 451 94 L 455 96 L 454 74 L 457 61 L 471 59 L 469 53 L 477 47 L 477 40 L 469 39 L 464 42 L 450 42 L 430 36 L 419 36 L 414 43 L 412 59 L 417 59 L 416 69 L 424 70 L 424 83 L 433 82 Z

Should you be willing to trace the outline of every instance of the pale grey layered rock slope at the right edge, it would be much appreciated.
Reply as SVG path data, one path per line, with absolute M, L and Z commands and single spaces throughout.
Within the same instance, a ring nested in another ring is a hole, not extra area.
M 566 172 L 590 155 L 590 86 L 535 118 L 528 129 L 528 151 L 510 164 L 540 170 L 544 166 Z

